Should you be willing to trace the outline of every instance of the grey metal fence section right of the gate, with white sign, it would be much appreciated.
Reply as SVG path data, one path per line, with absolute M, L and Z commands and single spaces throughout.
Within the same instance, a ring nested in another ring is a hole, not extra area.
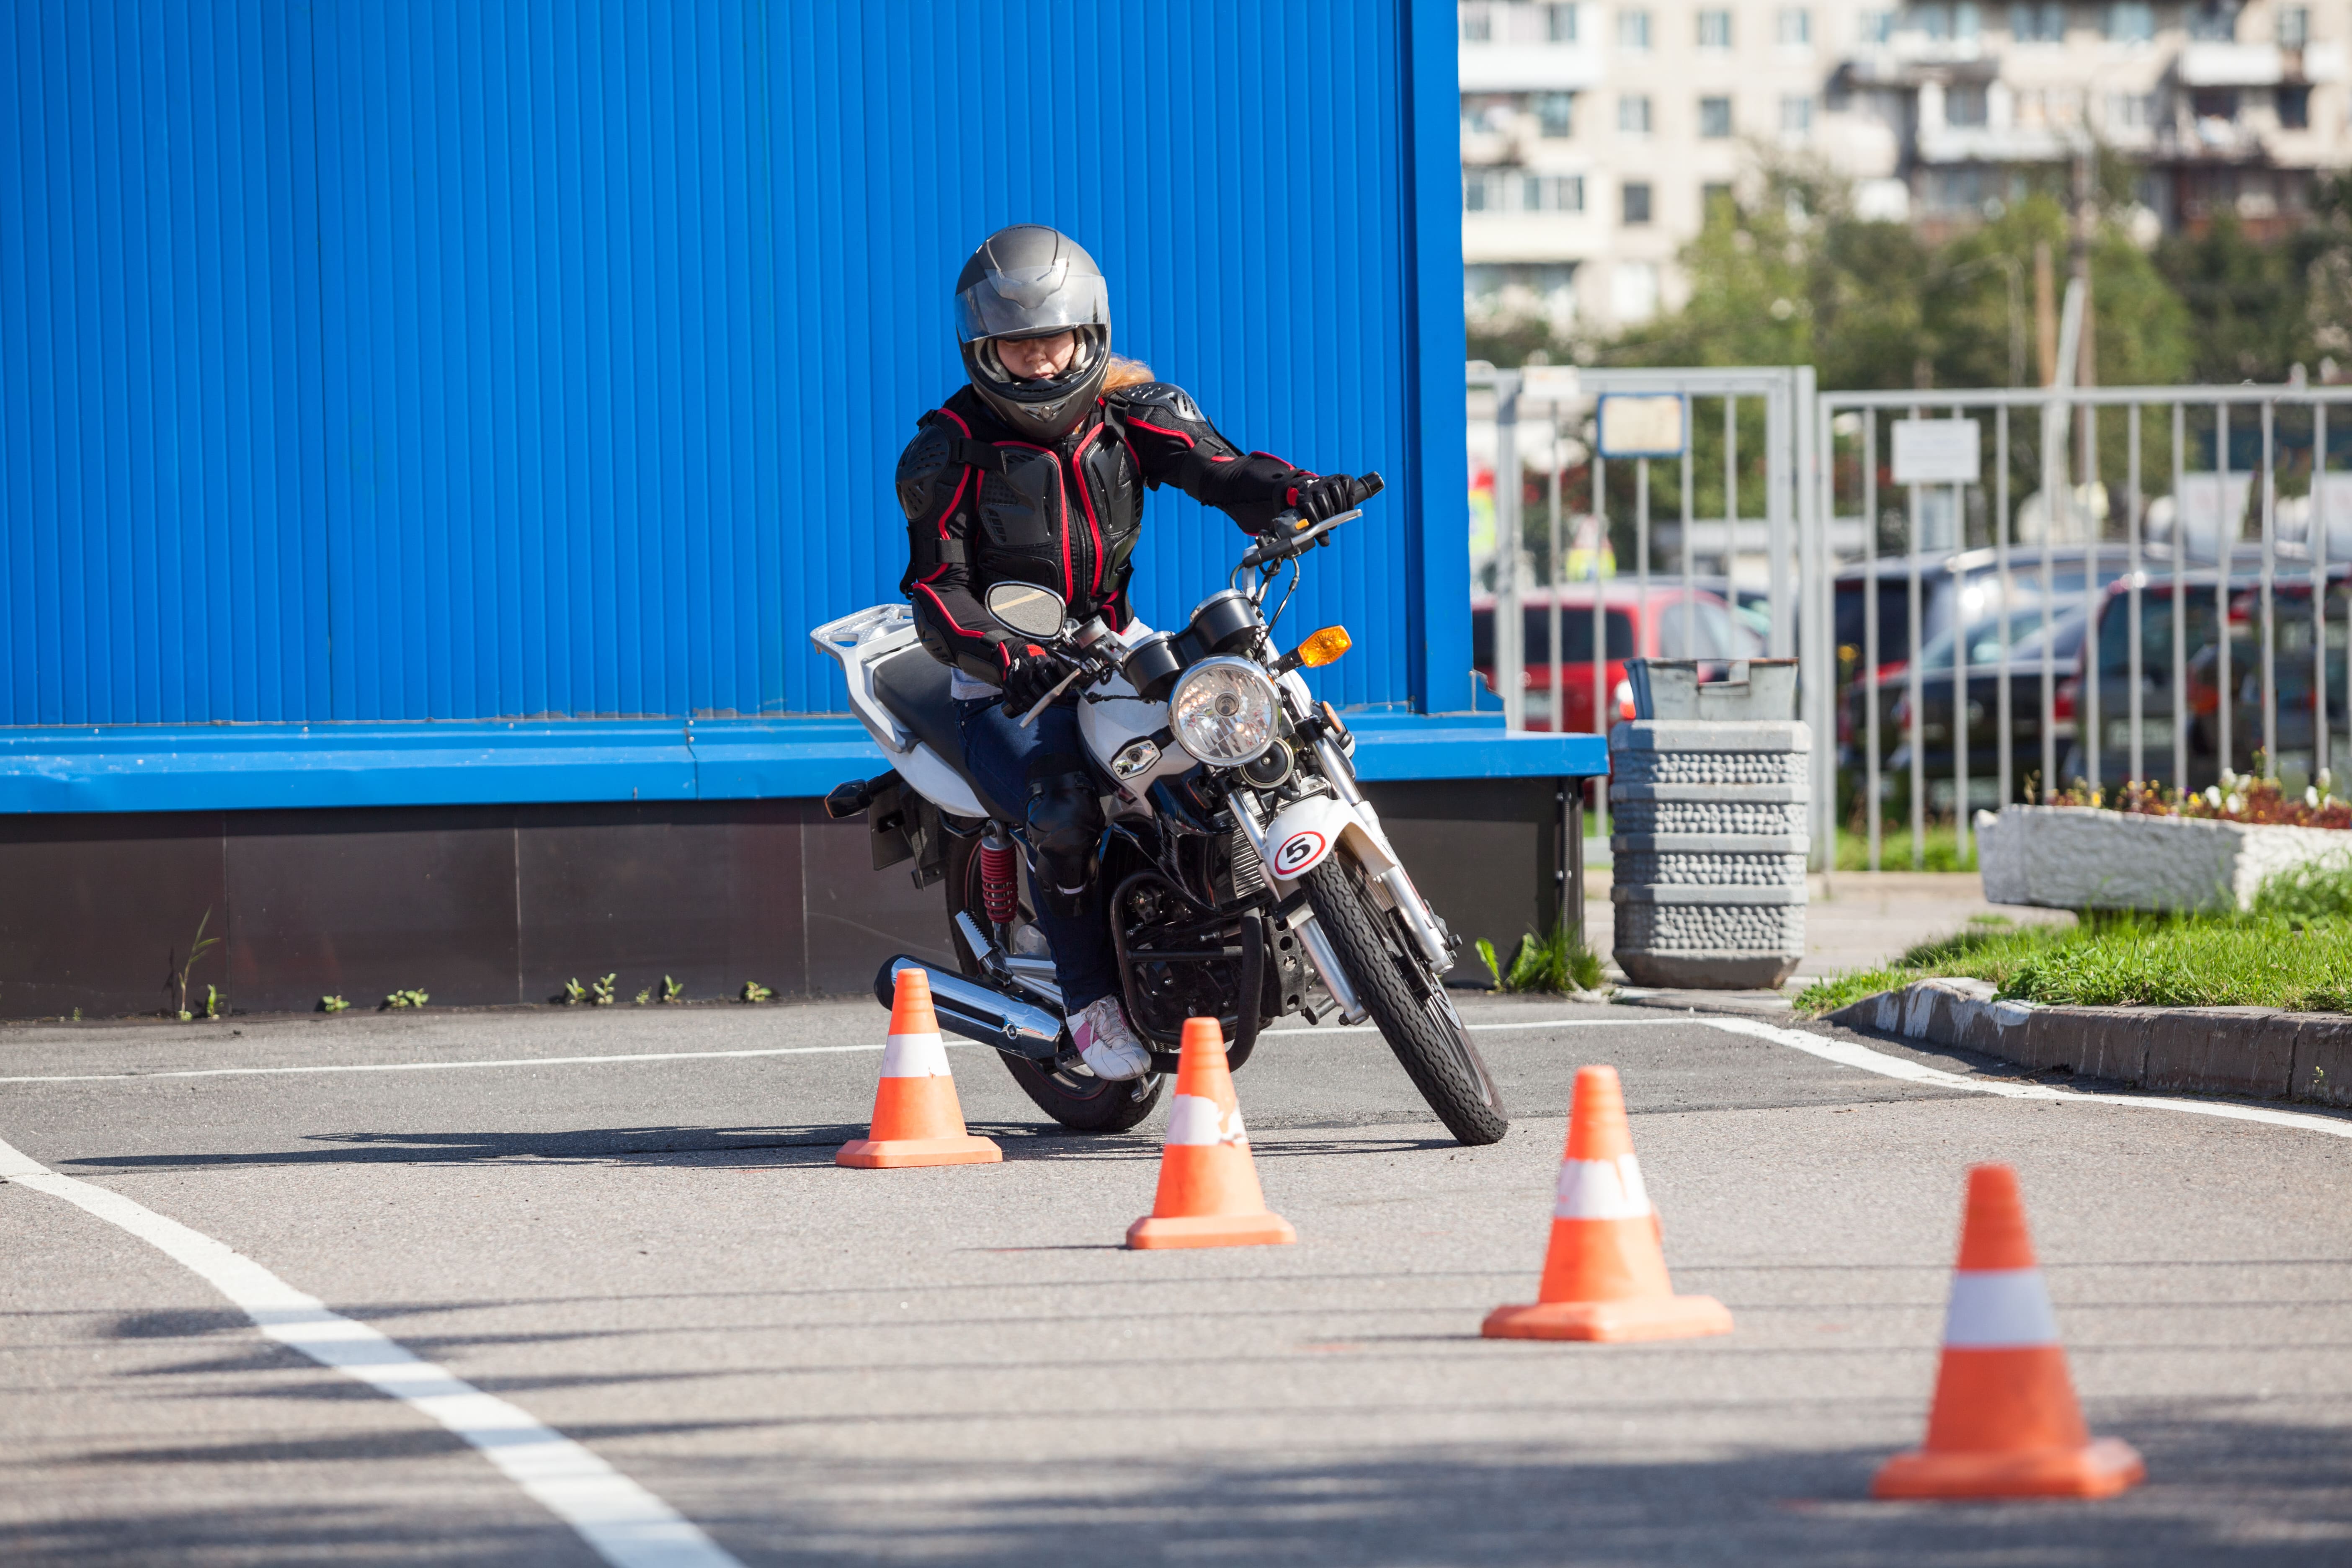
M 2328 769 L 2345 402 L 2352 388 L 2319 386 L 1823 393 L 1818 515 L 1860 541 L 1806 581 L 1839 630 L 1828 835 L 1858 825 L 1877 870 L 1893 804 L 1924 865 L 1947 813 L 1966 863 L 1976 806 Z

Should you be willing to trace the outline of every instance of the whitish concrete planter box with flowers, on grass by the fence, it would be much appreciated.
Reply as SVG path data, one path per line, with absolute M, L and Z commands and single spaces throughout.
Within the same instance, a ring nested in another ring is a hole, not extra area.
M 2086 806 L 1976 813 L 1985 898 L 2051 910 L 2249 910 L 2263 882 L 2352 863 L 2352 832 Z

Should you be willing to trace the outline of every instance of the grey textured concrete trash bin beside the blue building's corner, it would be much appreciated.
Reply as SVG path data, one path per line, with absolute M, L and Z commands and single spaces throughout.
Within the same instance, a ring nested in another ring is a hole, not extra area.
M 1795 661 L 1698 684 L 1632 661 L 1637 717 L 1609 731 L 1616 961 L 1635 985 L 1764 990 L 1804 957 L 1811 729 Z

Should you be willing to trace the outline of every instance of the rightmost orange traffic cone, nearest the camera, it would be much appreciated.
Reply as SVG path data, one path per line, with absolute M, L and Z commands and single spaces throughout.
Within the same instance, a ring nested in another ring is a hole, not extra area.
M 2147 1474 L 2131 1443 L 2091 1439 L 2025 1232 L 2018 1173 L 1969 1168 L 1959 1269 L 1926 1443 L 1886 1460 L 1875 1497 L 2112 1497 Z

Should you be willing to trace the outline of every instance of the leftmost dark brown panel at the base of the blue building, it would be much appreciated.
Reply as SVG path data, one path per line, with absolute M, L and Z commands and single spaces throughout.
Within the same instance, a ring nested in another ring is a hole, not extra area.
M 219 811 L 0 816 L 0 1018 L 160 1013 L 207 914 L 226 938 Z

